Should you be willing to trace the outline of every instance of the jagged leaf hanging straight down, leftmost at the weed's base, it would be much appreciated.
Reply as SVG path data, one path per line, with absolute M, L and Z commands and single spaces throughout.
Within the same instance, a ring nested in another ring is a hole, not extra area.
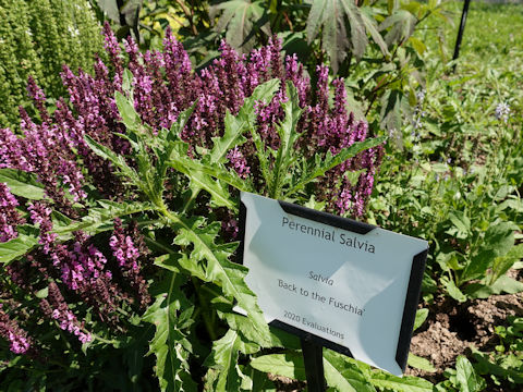
M 175 273 L 170 274 L 167 294 L 162 291 L 149 306 L 143 320 L 156 326 L 156 333 L 149 342 L 148 354 L 156 355 L 155 371 L 163 392 L 197 391 L 188 366 L 191 344 L 182 332 L 179 313 L 191 313 L 194 307 L 180 291 L 181 279 Z

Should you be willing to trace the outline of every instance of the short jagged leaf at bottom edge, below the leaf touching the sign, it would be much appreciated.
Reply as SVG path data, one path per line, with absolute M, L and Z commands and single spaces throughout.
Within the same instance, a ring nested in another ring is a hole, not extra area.
M 205 366 L 211 369 L 207 376 L 205 390 L 239 391 L 243 379 L 238 365 L 240 353 L 254 354 L 258 350 L 258 345 L 243 342 L 241 335 L 230 329 L 223 338 L 212 343 L 212 351 L 205 362 Z

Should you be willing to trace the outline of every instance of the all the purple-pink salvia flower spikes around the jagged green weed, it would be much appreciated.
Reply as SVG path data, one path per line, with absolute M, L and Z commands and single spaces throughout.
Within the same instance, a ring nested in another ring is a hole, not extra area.
M 99 328 L 99 321 L 109 329 L 123 331 L 122 308 L 137 311 L 151 301 L 144 277 L 148 250 L 135 223 L 124 224 L 117 218 L 113 231 L 105 236 L 95 237 L 78 230 L 62 242 L 54 232 L 54 212 L 74 220 L 88 213 L 88 193 L 112 200 L 135 197 L 130 196 L 111 164 L 85 142 L 88 135 L 117 154 L 130 151 L 129 142 L 120 136 L 125 127 L 114 100 L 115 91 L 123 91 L 126 83 L 124 69 L 133 75 L 134 107 L 154 133 L 170 127 L 183 110 L 196 102 L 182 131 L 182 138 L 193 148 L 190 154 L 198 146 L 211 147 L 212 138 L 223 135 L 226 113 L 236 114 L 256 86 L 271 78 L 281 81 L 280 89 L 270 101 L 256 102 L 255 107 L 256 131 L 266 148 L 276 149 L 280 144 L 277 124 L 284 118 L 282 103 L 289 100 L 287 82 L 296 87 L 304 113 L 297 130 L 302 136 L 294 146 L 303 156 L 336 155 L 368 136 L 367 122 L 356 120 L 348 111 L 343 81 L 335 79 L 329 85 L 328 69 L 318 66 L 317 83 L 313 85 L 295 56 L 281 56 L 279 39 L 270 39 L 266 47 L 248 56 L 240 56 L 223 41 L 221 56 L 200 72 L 192 69 L 186 51 L 170 30 L 163 51 L 142 53 L 132 38 L 122 50 L 106 25 L 105 47 L 109 61 L 96 59 L 93 75 L 63 68 L 61 77 L 69 98 L 60 98 L 52 112 L 46 108 L 44 91 L 29 79 L 27 90 L 38 120 L 21 110 L 20 131 L 0 130 L 0 169 L 32 174 L 42 184 L 46 196 L 33 201 L 15 197 L 0 183 L 0 242 L 15 238 L 22 223 L 31 223 L 39 231 L 38 246 L 5 267 L 15 289 L 2 287 L 2 295 L 14 298 L 23 289 L 36 296 L 36 286 L 41 290 L 42 285 L 48 293 L 39 297 L 38 309 L 27 319 L 19 320 L 16 315 L 11 317 L 0 309 L 0 335 L 15 354 L 26 353 L 29 345 L 35 345 L 35 350 L 45 346 L 36 338 L 28 338 L 31 326 L 41 321 L 38 315 L 80 343 L 89 343 L 96 339 L 92 329 Z M 330 170 L 316 184 L 317 199 L 326 201 L 331 211 L 362 216 L 382 154 L 379 146 Z M 231 148 L 227 158 L 242 179 L 252 177 L 255 186 L 260 186 L 252 140 Z M 135 163 L 130 159 L 129 164 Z M 357 181 L 349 180 L 350 171 L 361 171 Z M 224 231 L 238 232 L 230 213 L 224 215 Z M 92 309 L 96 322 L 90 316 L 86 318 L 86 308 Z

